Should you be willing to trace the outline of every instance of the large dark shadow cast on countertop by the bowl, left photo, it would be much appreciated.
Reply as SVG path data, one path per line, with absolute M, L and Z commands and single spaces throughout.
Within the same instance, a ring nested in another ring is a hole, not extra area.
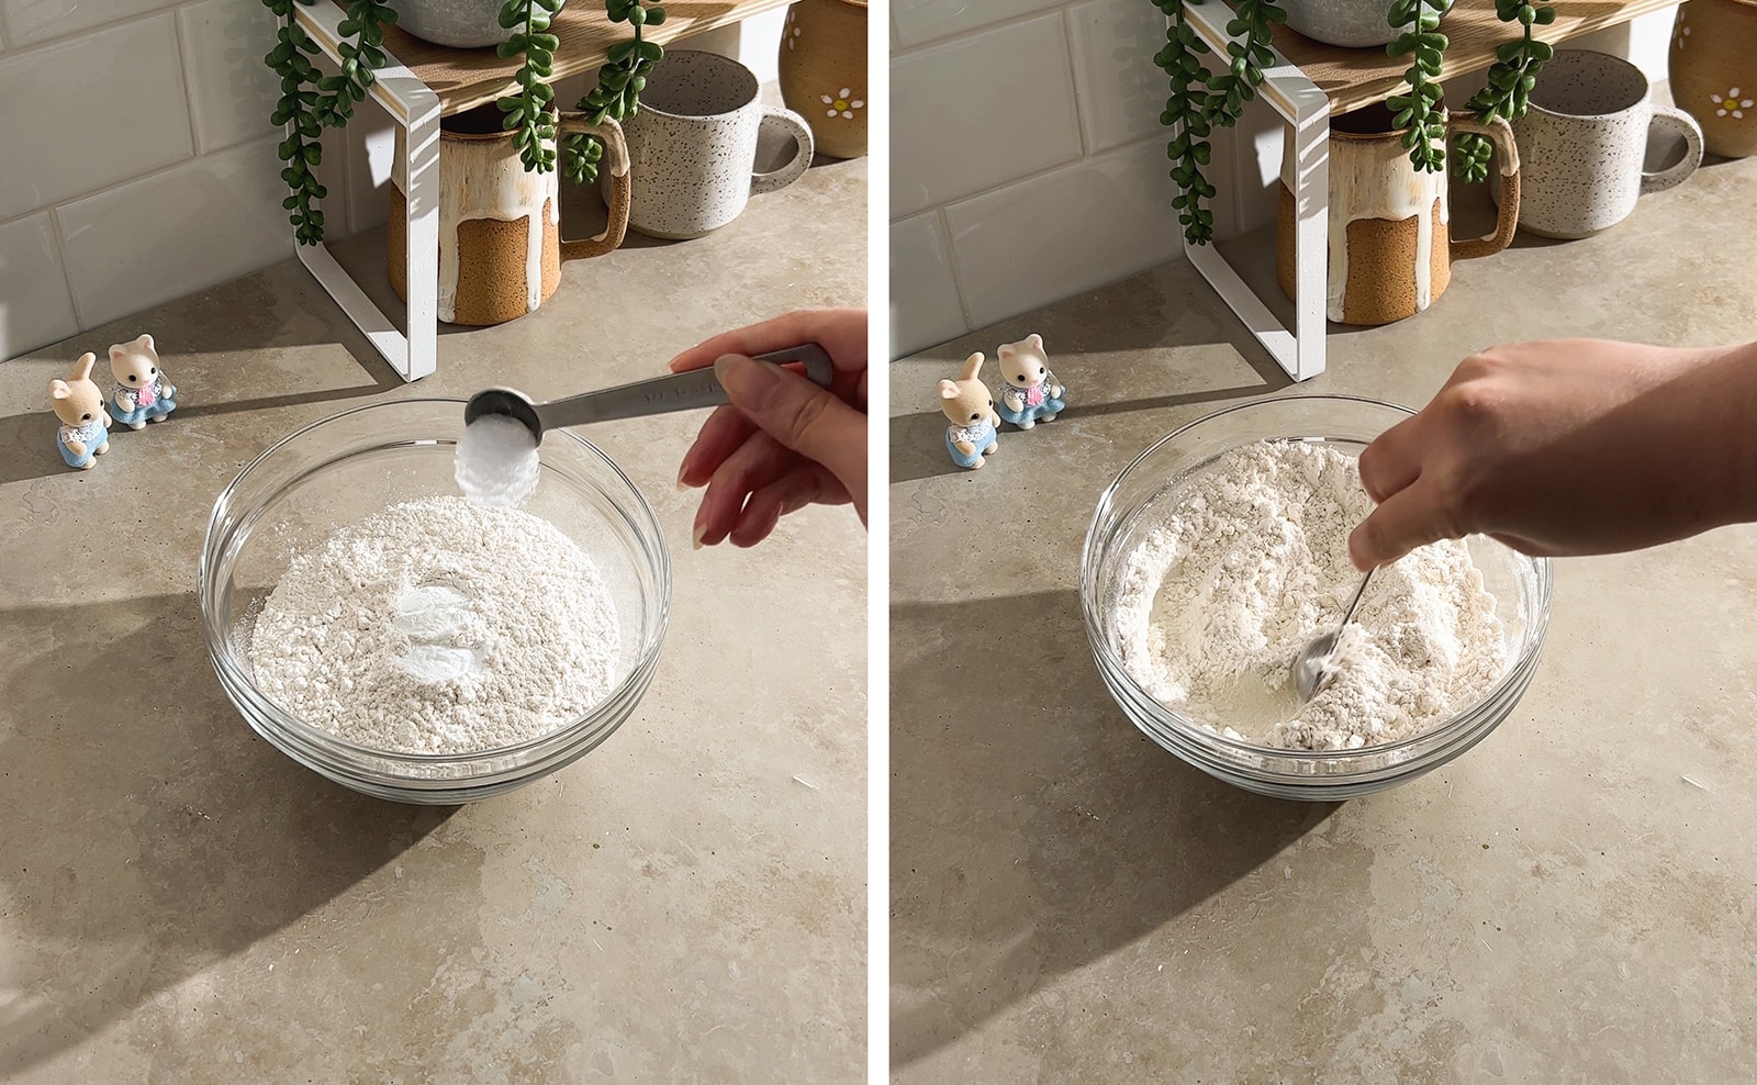
M 0 1078 L 77 1046 L 443 825 L 306 771 L 237 716 L 193 593 L 0 613 L 0 888 L 35 959 Z

